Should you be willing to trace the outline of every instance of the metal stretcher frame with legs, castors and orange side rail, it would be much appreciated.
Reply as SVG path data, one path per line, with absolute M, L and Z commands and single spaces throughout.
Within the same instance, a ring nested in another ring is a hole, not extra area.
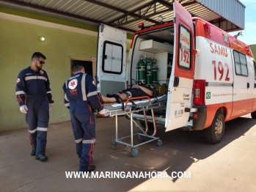
M 147 99 L 148 100 L 148 103 L 145 104 L 145 105 L 141 105 L 141 106 L 128 106 L 128 102 L 129 101 L 132 101 L 132 100 L 142 100 L 142 99 Z M 161 147 L 163 142 L 161 141 L 161 139 L 159 137 L 156 137 L 156 132 L 157 132 L 157 128 L 156 128 L 156 120 L 155 120 L 155 116 L 154 116 L 154 111 L 153 109 L 154 108 L 166 108 L 166 100 L 164 101 L 160 101 L 160 102 L 156 102 L 156 103 L 152 103 L 150 97 L 148 96 L 143 96 L 143 97 L 131 97 L 131 98 L 128 98 L 128 100 L 126 100 L 126 103 L 125 103 L 125 108 L 122 109 L 114 109 L 114 110 L 111 110 L 108 112 L 109 116 L 110 117 L 114 117 L 115 116 L 115 139 L 112 141 L 112 147 L 113 149 L 117 149 L 117 143 L 118 144 L 123 144 L 125 145 L 126 147 L 131 147 L 131 155 L 133 157 L 136 157 L 139 152 L 138 152 L 138 149 L 139 149 L 139 146 L 141 146 L 142 144 L 147 144 L 151 141 L 158 141 L 158 147 Z M 148 132 L 148 125 L 147 125 L 147 114 L 146 114 L 146 111 L 148 110 L 151 110 L 151 113 L 152 113 L 152 117 L 153 117 L 153 125 L 154 125 L 154 132 L 153 132 L 153 135 L 149 136 L 147 134 Z M 137 113 L 139 111 L 143 111 L 143 114 L 144 114 L 144 117 L 145 117 L 145 125 L 146 125 L 146 129 L 143 130 L 136 122 L 135 120 L 133 119 L 133 114 L 134 113 Z M 131 135 L 130 136 L 125 136 L 125 137 L 122 137 L 122 138 L 118 138 L 118 116 L 120 115 L 127 115 L 130 119 L 131 119 Z M 138 127 L 142 133 L 135 133 L 134 134 L 134 125 L 133 125 L 133 122 L 134 124 L 136 125 L 136 127 Z M 139 141 L 142 141 L 142 137 L 145 137 L 145 138 L 148 138 L 150 140 L 148 141 L 144 141 L 140 144 L 136 144 L 134 145 L 134 136 L 138 136 L 139 138 Z M 122 141 L 122 139 L 126 139 L 126 138 L 129 138 L 131 137 L 131 144 L 128 144 L 124 141 Z

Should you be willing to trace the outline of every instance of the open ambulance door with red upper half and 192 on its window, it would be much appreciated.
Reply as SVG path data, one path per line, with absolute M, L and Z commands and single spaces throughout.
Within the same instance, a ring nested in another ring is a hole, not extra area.
M 175 0 L 175 41 L 172 73 L 167 94 L 166 131 L 181 128 L 189 121 L 194 78 L 194 27 L 190 13 Z

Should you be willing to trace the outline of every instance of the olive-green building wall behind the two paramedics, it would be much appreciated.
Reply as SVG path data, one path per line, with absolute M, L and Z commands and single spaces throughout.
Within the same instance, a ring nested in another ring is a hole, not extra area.
M 96 57 L 97 35 L 35 22 L 37 24 L 0 18 L 0 131 L 26 128 L 24 114 L 19 111 L 15 98 L 15 85 L 18 73 L 31 65 L 32 53 L 39 51 L 47 58 L 43 70 L 48 73 L 55 101 L 49 123 L 70 120 L 62 92 L 62 85 L 70 77 L 70 57 Z M 45 37 L 45 42 L 40 42 L 39 37 Z

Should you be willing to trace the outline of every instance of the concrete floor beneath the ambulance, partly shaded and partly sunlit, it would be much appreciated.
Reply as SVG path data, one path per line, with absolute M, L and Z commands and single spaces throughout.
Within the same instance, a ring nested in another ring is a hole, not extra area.
M 120 136 L 128 136 L 130 122 L 120 117 Z M 256 191 L 256 119 L 249 116 L 226 123 L 219 144 L 208 144 L 202 132 L 158 128 L 157 141 L 139 147 L 139 155 L 118 144 L 114 118 L 96 119 L 95 171 L 191 171 L 191 178 L 67 179 L 78 171 L 78 157 L 70 122 L 49 125 L 47 162 L 34 160 L 26 129 L 0 133 L 0 191 Z M 138 128 L 134 128 L 138 130 Z M 129 140 L 128 140 L 129 141 Z M 138 138 L 134 138 L 139 143 Z M 105 173 L 105 172 L 104 172 Z

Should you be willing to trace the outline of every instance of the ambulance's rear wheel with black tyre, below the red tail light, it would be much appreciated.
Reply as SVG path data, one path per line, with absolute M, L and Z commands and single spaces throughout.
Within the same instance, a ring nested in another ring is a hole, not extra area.
M 222 141 L 224 130 L 224 114 L 222 114 L 222 111 L 217 111 L 211 126 L 205 129 L 205 139 L 212 144 L 217 144 Z

